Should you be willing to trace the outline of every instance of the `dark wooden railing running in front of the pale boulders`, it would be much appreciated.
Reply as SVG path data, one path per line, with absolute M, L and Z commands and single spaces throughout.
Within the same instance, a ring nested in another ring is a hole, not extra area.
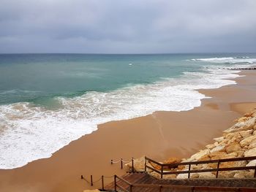
M 218 159 L 218 160 L 210 160 L 210 161 L 192 161 L 192 162 L 184 162 L 184 163 L 178 163 L 178 164 L 161 164 L 157 161 L 154 161 L 151 158 L 145 157 L 145 172 L 147 169 L 151 169 L 153 172 L 157 172 L 160 174 L 160 177 L 162 178 L 165 174 L 188 174 L 188 178 L 190 178 L 190 174 L 192 173 L 198 173 L 198 172 L 216 172 L 216 178 L 218 177 L 219 172 L 225 172 L 225 171 L 235 171 L 235 170 L 255 170 L 254 177 L 256 177 L 256 164 L 255 166 L 236 166 L 236 167 L 225 167 L 220 168 L 220 164 L 223 162 L 233 162 L 233 161 L 249 161 L 249 160 L 255 160 L 256 156 L 253 157 L 244 157 L 244 158 L 225 158 L 225 159 Z M 157 164 L 160 166 L 160 170 L 154 168 L 154 166 L 148 166 L 147 162 L 151 162 L 153 164 Z M 198 165 L 198 164 L 217 164 L 217 168 L 212 169 L 196 169 L 192 170 L 192 165 Z M 164 168 L 176 168 L 178 166 L 189 166 L 189 170 L 184 171 L 170 171 L 170 172 L 164 172 Z

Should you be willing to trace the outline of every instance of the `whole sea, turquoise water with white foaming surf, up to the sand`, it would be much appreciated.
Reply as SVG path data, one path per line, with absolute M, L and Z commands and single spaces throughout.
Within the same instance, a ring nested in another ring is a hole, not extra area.
M 0 54 L 0 169 L 49 158 L 99 123 L 187 111 L 256 53 Z

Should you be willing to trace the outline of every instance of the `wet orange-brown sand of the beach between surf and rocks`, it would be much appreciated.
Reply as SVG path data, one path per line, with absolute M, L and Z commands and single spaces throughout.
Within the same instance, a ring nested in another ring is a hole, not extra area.
M 211 96 L 201 107 L 187 112 L 154 112 L 132 120 L 99 125 L 94 133 L 71 142 L 50 158 L 26 166 L 0 170 L 0 191 L 83 191 L 90 188 L 80 175 L 97 180 L 102 174 L 124 174 L 110 160 L 147 155 L 158 161 L 189 157 L 256 107 L 255 71 L 242 72 L 238 85 L 200 90 Z M 105 183 L 112 181 L 108 179 Z M 100 187 L 94 185 L 93 188 Z

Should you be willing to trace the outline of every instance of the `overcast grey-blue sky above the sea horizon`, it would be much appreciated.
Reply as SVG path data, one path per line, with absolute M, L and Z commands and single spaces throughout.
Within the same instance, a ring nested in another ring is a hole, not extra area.
M 0 53 L 256 52 L 255 0 L 0 0 Z

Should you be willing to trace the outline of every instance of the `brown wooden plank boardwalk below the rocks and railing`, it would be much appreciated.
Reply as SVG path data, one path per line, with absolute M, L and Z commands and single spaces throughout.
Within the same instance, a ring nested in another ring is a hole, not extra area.
M 145 172 L 124 174 L 119 178 L 116 180 L 120 186 L 117 191 L 256 191 L 255 178 L 158 180 Z M 105 186 L 105 190 L 114 189 L 115 183 Z

